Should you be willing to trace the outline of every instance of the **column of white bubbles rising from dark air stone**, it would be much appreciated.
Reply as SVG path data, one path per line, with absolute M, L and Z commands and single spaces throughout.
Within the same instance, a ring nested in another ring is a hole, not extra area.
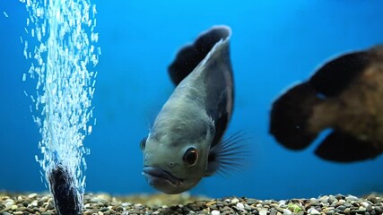
M 98 64 L 100 55 L 98 33 L 93 31 L 96 7 L 89 0 L 20 1 L 29 12 L 25 31 L 34 44 L 29 46 L 21 38 L 24 56 L 31 61 L 22 81 L 27 75 L 37 81 L 36 92 L 30 93 L 34 104 L 30 111 L 42 135 L 39 149 L 43 157 L 36 155 L 36 160 L 45 172 L 56 207 L 60 202 L 75 203 L 74 213 L 78 213 L 83 209 L 85 187 L 83 154 L 90 153 L 83 140 L 91 133 L 88 122 L 97 76 L 88 69 Z

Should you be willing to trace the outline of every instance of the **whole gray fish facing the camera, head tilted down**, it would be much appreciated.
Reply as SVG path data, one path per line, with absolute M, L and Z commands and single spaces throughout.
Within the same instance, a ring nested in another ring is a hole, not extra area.
M 163 193 L 181 193 L 202 177 L 239 165 L 240 135 L 222 141 L 233 110 L 231 29 L 213 27 L 170 64 L 177 86 L 141 142 L 143 175 Z

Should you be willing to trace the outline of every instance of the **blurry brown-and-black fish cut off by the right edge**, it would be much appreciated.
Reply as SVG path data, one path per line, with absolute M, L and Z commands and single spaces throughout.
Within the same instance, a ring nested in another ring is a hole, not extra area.
M 301 150 L 332 128 L 315 153 L 353 162 L 383 151 L 383 47 L 339 56 L 307 82 L 287 90 L 271 111 L 270 133 Z

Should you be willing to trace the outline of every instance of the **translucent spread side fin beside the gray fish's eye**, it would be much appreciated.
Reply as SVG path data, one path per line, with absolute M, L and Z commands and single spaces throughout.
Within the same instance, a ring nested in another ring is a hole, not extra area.
M 246 139 L 244 133 L 233 133 L 212 147 L 209 151 L 205 176 L 212 176 L 215 173 L 224 175 L 240 170 L 248 155 L 248 149 L 244 144 Z

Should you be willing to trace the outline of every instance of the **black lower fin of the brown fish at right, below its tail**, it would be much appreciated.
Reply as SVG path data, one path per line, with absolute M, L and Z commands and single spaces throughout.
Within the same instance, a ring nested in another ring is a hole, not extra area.
M 382 151 L 374 147 L 374 144 L 361 141 L 352 135 L 335 131 L 330 133 L 320 143 L 315 154 L 322 159 L 336 162 L 354 162 L 363 159 L 374 159 Z

